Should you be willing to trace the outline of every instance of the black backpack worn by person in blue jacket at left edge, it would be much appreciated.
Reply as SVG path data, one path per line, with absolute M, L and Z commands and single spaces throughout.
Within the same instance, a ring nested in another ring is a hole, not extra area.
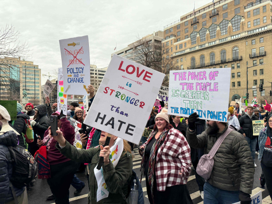
M 38 165 L 31 153 L 17 145 L 8 147 L 12 160 L 12 177 L 10 181 L 14 187 L 26 187 L 38 173 Z

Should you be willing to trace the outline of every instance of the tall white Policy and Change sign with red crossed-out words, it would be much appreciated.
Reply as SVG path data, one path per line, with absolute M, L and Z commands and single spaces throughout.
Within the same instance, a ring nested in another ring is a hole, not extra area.
M 90 85 L 88 36 L 60 40 L 65 94 L 86 95 Z

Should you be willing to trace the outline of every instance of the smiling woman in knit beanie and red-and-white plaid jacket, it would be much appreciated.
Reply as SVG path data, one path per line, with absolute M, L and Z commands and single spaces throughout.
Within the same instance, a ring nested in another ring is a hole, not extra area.
M 186 186 L 191 150 L 185 136 L 169 124 L 167 109 L 157 114 L 153 132 L 141 149 L 141 178 L 145 175 L 150 204 L 192 204 Z

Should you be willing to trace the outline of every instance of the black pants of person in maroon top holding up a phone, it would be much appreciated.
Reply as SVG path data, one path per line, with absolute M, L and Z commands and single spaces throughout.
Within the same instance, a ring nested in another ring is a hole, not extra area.
M 47 179 L 56 204 L 69 204 L 69 187 L 72 183 L 78 164 L 68 161 L 50 165 L 51 178 Z

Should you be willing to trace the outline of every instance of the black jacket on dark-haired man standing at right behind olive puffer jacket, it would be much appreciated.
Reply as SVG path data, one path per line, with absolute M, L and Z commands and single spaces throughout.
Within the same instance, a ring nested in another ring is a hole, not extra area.
M 249 117 L 249 115 L 246 113 L 244 116 L 242 116 L 239 119 L 240 127 L 241 129 L 238 131 L 241 134 L 246 134 L 249 138 L 253 139 L 257 136 L 253 135 L 253 120 L 258 120 L 258 117 L 256 117 L 254 114 L 252 118 Z

